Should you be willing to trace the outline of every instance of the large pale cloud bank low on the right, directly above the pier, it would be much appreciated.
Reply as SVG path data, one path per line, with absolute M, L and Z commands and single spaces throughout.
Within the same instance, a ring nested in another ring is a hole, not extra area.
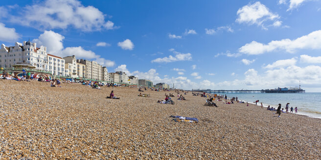
M 258 74 L 254 69 L 249 69 L 244 75 L 245 78 L 243 80 L 223 81 L 217 83 L 216 88 L 272 89 L 275 87 L 298 86 L 299 80 L 304 87 L 321 87 L 321 66 L 315 65 L 306 67 L 293 65 L 286 68 L 269 69 L 261 74 Z

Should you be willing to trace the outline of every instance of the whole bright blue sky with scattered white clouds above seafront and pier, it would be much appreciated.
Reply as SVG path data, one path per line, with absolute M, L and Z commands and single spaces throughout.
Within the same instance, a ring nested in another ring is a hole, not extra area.
M 298 86 L 321 92 L 321 0 L 14 0 L 0 43 L 183 89 Z

